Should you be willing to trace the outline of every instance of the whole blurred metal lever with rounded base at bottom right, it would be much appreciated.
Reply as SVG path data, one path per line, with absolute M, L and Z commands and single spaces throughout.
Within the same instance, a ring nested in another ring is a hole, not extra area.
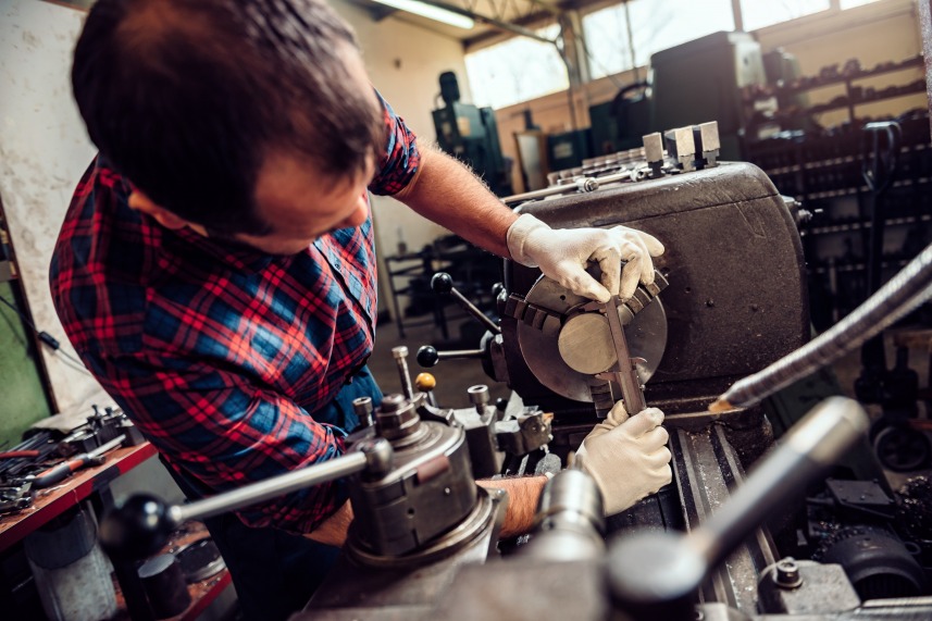
M 689 535 L 645 530 L 620 538 L 608 556 L 616 605 L 636 621 L 696 619 L 694 596 L 709 572 L 768 516 L 823 476 L 868 425 L 867 413 L 854 399 L 825 399 Z

